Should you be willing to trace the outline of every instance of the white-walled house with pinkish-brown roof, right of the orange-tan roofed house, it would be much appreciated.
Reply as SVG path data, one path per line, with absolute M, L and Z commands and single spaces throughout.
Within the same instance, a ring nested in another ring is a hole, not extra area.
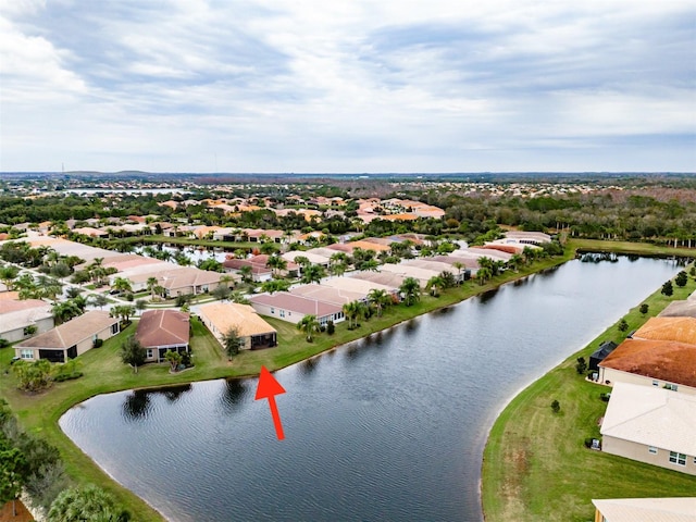
M 338 323 L 346 319 L 340 304 L 295 296 L 287 291 L 277 291 L 273 295 L 259 294 L 252 296 L 249 301 L 261 315 L 278 318 L 294 324 L 299 323 L 304 315 L 315 315 L 322 325 L 327 324 L 328 321 Z

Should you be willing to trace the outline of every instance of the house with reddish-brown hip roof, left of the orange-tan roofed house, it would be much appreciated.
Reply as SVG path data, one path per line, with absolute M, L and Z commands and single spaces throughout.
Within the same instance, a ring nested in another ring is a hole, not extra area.
M 169 350 L 189 350 L 190 316 L 178 310 L 146 310 L 140 316 L 135 338 L 147 350 L 146 361 L 163 362 Z

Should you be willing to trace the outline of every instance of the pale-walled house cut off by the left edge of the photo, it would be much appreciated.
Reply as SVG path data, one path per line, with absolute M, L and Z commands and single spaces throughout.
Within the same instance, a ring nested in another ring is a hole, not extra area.
M 53 327 L 53 312 L 40 299 L 0 299 L 0 338 L 10 343 Z

